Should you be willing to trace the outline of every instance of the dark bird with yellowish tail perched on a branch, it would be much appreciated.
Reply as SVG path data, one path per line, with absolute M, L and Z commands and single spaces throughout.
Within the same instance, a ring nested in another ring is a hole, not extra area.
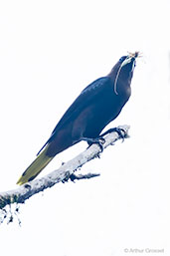
M 81 140 L 99 143 L 101 130 L 119 115 L 131 95 L 130 84 L 138 56 L 135 52 L 121 57 L 107 76 L 85 88 L 17 184 L 33 180 L 56 154 Z

